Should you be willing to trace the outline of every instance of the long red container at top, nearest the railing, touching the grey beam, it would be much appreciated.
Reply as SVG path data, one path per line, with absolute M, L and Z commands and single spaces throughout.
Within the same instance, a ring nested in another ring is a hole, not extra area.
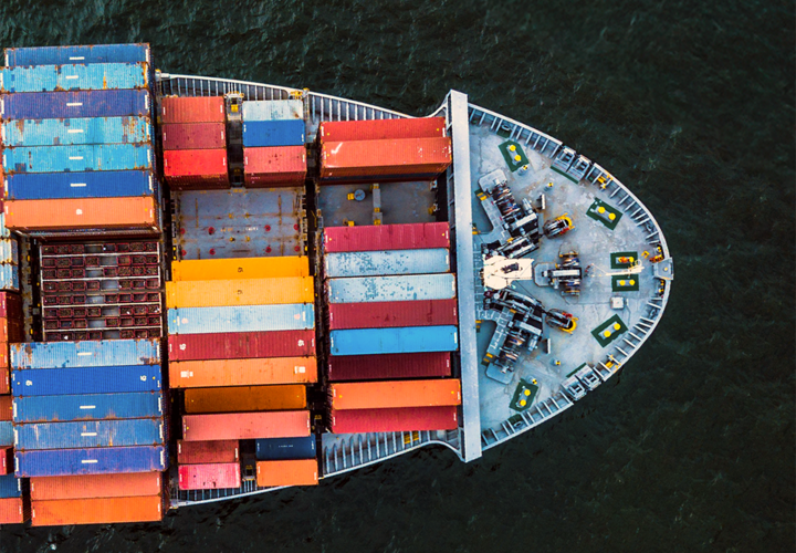
M 446 136 L 444 117 L 399 119 L 327 121 L 321 123 L 321 142 L 388 140 L 390 138 L 434 138 Z

